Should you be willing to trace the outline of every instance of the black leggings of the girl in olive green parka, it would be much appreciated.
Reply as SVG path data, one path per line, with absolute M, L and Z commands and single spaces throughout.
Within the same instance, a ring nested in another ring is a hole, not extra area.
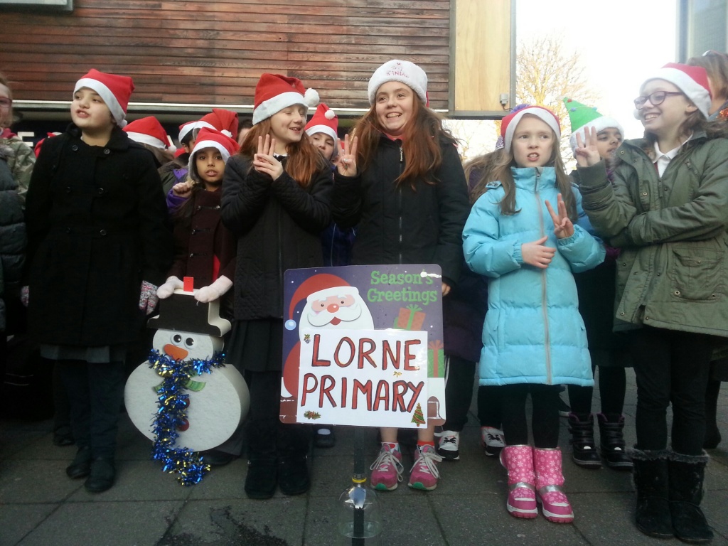
M 705 388 L 713 350 L 711 336 L 644 327 L 631 334 L 637 379 L 637 447 L 668 446 L 667 408 L 673 405 L 672 447 L 703 453 Z

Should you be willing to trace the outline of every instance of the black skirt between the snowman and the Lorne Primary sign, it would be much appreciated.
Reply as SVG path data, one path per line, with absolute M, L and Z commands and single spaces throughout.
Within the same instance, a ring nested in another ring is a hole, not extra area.
M 226 361 L 243 371 L 282 371 L 283 320 L 236 320 Z

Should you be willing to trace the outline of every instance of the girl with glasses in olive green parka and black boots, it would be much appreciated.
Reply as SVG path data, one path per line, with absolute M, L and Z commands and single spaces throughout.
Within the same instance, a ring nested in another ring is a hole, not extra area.
M 635 107 L 644 138 L 622 143 L 611 183 L 596 131 L 577 135 L 579 187 L 597 232 L 621 248 L 614 330 L 630 331 L 637 379 L 638 529 L 707 542 L 705 387 L 713 336 L 728 337 L 728 140 L 706 132 L 704 68 L 668 63 Z

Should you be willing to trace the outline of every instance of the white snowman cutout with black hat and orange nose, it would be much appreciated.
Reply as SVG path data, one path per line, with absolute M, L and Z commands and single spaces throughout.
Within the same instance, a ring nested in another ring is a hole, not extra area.
M 186 416 L 176 423 L 175 447 L 205 451 L 232 436 L 248 414 L 250 397 L 240 372 L 221 362 L 223 336 L 230 331 L 230 323 L 220 317 L 219 300 L 200 303 L 195 291 L 175 290 L 170 298 L 159 301 L 159 315 L 147 324 L 157 328 L 152 356 L 129 376 L 124 403 L 135 427 L 156 441 L 155 421 L 165 408 L 160 400 L 165 379 L 151 363 L 156 358 L 158 367 L 162 363 L 167 368 L 192 370 L 179 392 L 186 400 L 178 396 L 186 402 Z M 202 373 L 195 373 L 195 366 Z

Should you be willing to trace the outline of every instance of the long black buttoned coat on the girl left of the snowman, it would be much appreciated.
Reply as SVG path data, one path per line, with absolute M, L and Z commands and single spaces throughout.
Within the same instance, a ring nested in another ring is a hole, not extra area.
M 103 347 L 135 339 L 141 282 L 164 282 L 173 248 L 149 150 L 119 128 L 106 146 L 88 146 L 71 124 L 43 143 L 25 216 L 28 320 L 38 341 Z

